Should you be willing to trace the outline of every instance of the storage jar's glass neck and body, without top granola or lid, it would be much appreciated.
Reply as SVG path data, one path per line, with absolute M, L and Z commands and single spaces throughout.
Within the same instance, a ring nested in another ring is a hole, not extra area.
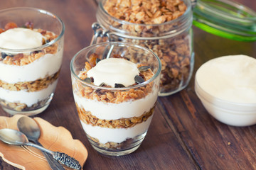
M 184 2 L 187 9 L 182 16 L 160 24 L 130 23 L 114 18 L 105 11 L 105 1 L 97 9 L 97 22 L 103 30 L 108 30 L 109 40 L 132 42 L 158 55 L 162 64 L 159 96 L 184 89 L 193 72 L 193 15 L 191 1 Z

